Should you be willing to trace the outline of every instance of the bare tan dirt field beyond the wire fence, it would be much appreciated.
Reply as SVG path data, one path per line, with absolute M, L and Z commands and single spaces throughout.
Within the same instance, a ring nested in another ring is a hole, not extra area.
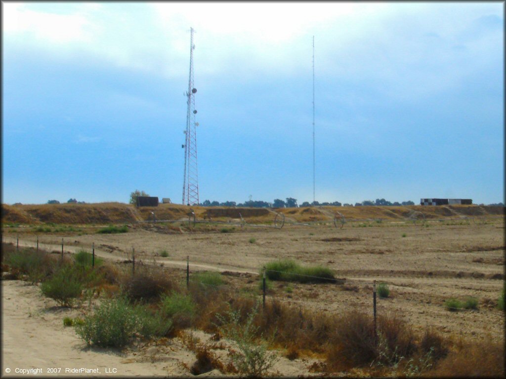
M 434 325 L 445 334 L 503 340 L 504 313 L 494 308 L 504 278 L 502 220 L 486 224 L 434 221 L 427 227 L 395 222 L 358 225 L 346 224 L 343 229 L 236 226 L 230 233 L 174 233 L 162 225 L 144 226 L 114 235 L 68 235 L 65 251 L 91 251 L 95 243 L 97 255 L 126 260 L 134 248 L 136 260 L 181 268 L 189 256 L 191 271 L 258 273 L 266 262 L 282 258 L 321 264 L 346 278 L 346 285 L 291 284 L 292 291 L 287 292 L 288 285 L 276 283 L 270 296 L 327 312 L 350 307 L 372 312 L 372 281 L 384 281 L 391 297 L 379 299 L 378 312 L 398 312 L 419 330 Z M 251 239 L 255 242 L 250 243 Z M 4 234 L 5 241 L 15 242 L 15 238 Z M 50 251 L 61 251 L 60 235 L 40 235 L 39 241 L 41 248 L 47 245 Z M 20 243 L 35 246 L 35 236 L 25 234 Z M 167 258 L 159 256 L 162 250 L 168 252 Z M 445 300 L 466 296 L 479 300 L 479 310 L 449 312 L 444 308 Z

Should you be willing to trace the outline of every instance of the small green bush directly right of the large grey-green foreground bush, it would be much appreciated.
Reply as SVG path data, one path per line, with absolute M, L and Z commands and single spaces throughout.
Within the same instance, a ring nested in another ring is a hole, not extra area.
M 172 318 L 176 328 L 185 328 L 191 325 L 197 306 L 190 295 L 173 292 L 171 295 L 162 296 L 160 303 L 162 314 Z

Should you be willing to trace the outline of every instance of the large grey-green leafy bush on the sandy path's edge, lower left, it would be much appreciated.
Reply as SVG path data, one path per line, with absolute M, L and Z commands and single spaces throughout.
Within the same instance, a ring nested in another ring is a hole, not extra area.
M 140 318 L 124 298 L 104 300 L 84 324 L 76 325 L 77 335 L 88 345 L 123 347 L 141 329 Z

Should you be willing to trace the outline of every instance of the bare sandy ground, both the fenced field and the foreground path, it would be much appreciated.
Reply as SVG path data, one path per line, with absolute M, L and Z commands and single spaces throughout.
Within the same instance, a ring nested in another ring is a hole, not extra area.
M 372 283 L 378 280 L 388 283 L 391 290 L 390 298 L 378 299 L 378 313 L 397 312 L 418 331 L 434 326 L 443 334 L 467 340 L 504 341 L 504 313 L 495 308 L 504 279 L 503 220 L 486 224 L 434 221 L 428 227 L 402 222 L 368 224 L 371 226 L 346 224 L 343 229 L 235 226 L 230 233 L 176 233 L 162 225 L 144 225 L 122 234 L 63 237 L 65 252 L 91 251 L 94 243 L 98 256 L 116 261 L 130 259 L 135 250 L 138 261 L 184 269 L 189 256 L 191 272 L 242 272 L 240 278 L 226 276 L 238 287 L 248 282 L 251 286 L 262 265 L 275 259 L 322 264 L 346 278 L 345 285 L 275 283 L 268 296 L 330 313 L 350 308 L 372 313 Z M 39 235 L 39 245 L 61 251 L 61 238 Z M 16 237 L 4 232 L 3 241 L 16 243 Z M 35 235 L 22 235 L 20 245 L 35 246 Z M 159 256 L 162 250 L 168 252 L 167 258 Z M 110 375 L 105 369 L 116 368 L 121 376 L 189 374 L 181 362 L 191 365 L 194 354 L 177 339 L 123 352 L 88 348 L 62 323 L 66 312 L 77 315 L 79 309 L 55 307 L 37 287 L 20 281 L 2 281 L 2 289 L 3 375 L 7 367 L 98 368 L 99 375 Z M 478 310 L 449 312 L 444 308 L 445 300 L 466 296 L 479 300 Z M 276 366 L 279 373 L 309 374 L 310 360 L 283 359 Z

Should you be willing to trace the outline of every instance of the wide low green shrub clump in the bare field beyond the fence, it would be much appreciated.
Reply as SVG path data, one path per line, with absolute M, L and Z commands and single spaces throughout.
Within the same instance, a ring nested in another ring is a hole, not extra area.
M 334 282 L 334 273 L 328 267 L 301 266 L 289 259 L 269 262 L 265 265 L 270 280 L 298 281 L 301 283 Z M 262 273 L 263 269 L 261 270 Z

